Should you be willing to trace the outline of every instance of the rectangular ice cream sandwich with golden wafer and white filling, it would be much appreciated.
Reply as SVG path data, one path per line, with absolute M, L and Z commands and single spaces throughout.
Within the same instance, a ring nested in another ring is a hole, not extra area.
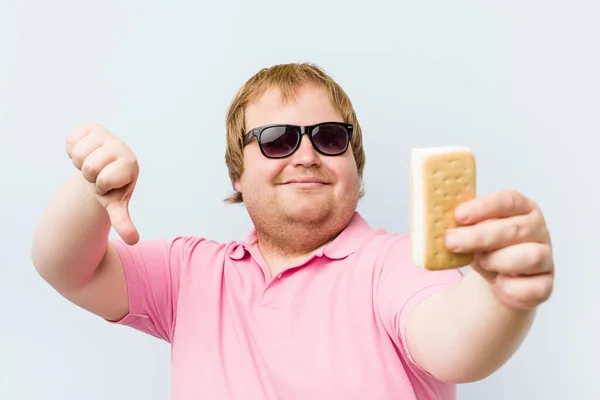
M 445 246 L 448 229 L 458 226 L 454 210 L 475 198 L 475 157 L 467 147 L 414 149 L 410 168 L 410 235 L 413 264 L 429 270 L 460 268 L 473 254 Z

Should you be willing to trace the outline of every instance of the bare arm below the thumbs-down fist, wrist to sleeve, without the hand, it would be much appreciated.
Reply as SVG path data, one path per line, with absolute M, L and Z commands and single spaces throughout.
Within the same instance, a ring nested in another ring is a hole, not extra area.
M 92 185 L 77 171 L 42 215 L 32 260 L 40 276 L 69 301 L 117 320 L 128 311 L 127 289 L 120 259 L 108 244 L 110 228 Z

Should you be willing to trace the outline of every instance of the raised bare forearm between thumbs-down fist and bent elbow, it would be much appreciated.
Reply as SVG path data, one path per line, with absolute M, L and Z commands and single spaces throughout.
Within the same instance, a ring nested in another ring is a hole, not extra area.
M 35 268 L 56 288 L 83 284 L 106 252 L 110 227 L 108 213 L 77 171 L 38 223 L 31 254 Z

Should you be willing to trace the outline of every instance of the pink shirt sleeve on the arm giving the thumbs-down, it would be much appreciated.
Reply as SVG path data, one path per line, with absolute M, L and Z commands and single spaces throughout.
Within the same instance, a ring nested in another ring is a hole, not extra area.
M 171 342 L 186 239 L 140 241 L 133 246 L 116 239 L 110 243 L 123 264 L 129 313 L 108 322 Z

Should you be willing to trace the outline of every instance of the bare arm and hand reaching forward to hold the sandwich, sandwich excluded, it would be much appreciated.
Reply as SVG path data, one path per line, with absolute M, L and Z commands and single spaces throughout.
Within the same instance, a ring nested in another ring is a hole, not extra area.
M 475 253 L 472 271 L 413 310 L 406 341 L 423 369 L 462 383 L 487 377 L 517 350 L 552 293 L 554 263 L 542 213 L 519 193 L 472 200 L 456 218 L 462 226 L 446 246 Z

